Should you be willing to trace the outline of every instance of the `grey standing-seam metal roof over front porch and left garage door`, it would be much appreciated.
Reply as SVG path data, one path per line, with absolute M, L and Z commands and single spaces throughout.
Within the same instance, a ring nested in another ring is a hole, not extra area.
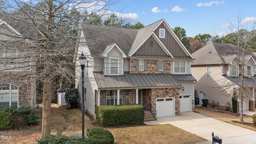
M 181 84 L 172 74 L 130 74 L 123 76 L 104 76 L 102 72 L 94 72 L 99 89 L 107 88 L 157 88 L 157 87 L 178 87 Z

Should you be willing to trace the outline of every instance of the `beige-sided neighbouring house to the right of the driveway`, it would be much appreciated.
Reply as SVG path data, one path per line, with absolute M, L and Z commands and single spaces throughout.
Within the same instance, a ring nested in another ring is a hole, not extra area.
M 208 99 L 208 104 L 232 108 L 232 96 L 238 96 L 242 64 L 244 66 L 243 110 L 255 111 L 255 60 L 252 52 L 232 44 L 210 43 L 192 54 L 191 73 L 196 78 L 195 97 Z M 243 62 L 244 61 L 244 62 Z M 238 98 L 239 112 L 239 98 Z

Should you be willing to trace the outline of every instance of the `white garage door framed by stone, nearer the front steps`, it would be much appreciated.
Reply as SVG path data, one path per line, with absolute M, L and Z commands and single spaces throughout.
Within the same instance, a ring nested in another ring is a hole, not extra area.
M 174 116 L 174 98 L 161 98 L 156 100 L 157 117 Z

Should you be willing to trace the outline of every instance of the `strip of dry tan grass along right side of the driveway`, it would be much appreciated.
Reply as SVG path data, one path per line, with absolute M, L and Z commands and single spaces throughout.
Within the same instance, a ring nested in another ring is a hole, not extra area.
M 221 120 L 223 122 L 228 122 L 230 124 L 234 124 L 236 126 L 240 126 L 242 128 L 247 128 L 249 130 L 256 131 L 256 126 L 252 123 L 252 116 L 243 116 L 244 123 L 240 123 L 240 116 L 231 115 L 232 112 L 226 112 L 226 114 L 222 112 L 214 112 L 212 110 L 207 110 L 199 107 L 195 107 L 195 112 L 202 114 L 204 116 L 209 116 L 211 118 L 215 118 L 217 120 Z

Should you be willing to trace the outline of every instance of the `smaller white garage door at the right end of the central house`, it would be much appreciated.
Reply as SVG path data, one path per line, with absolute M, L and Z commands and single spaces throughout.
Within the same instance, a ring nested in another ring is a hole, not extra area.
M 191 103 L 191 96 L 180 96 L 180 112 L 190 112 Z

